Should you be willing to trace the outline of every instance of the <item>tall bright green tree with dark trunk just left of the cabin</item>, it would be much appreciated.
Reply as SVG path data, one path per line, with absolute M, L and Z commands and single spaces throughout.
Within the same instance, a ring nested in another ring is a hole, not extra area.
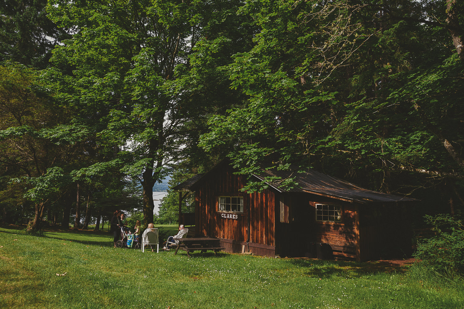
M 204 117 L 188 94 L 201 93 L 201 85 L 188 82 L 189 56 L 205 29 L 224 23 L 230 7 L 227 1 L 50 3 L 52 19 L 77 32 L 52 59 L 74 68 L 67 100 L 82 119 L 101 124 L 96 129 L 109 145 L 122 147 L 122 171 L 143 188 L 145 225 L 153 222 L 153 185 L 178 160 L 195 127 L 190 120 Z

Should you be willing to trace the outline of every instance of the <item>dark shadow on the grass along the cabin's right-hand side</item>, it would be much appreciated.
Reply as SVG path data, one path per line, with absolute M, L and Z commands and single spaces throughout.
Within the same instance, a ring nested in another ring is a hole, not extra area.
M 331 276 L 357 277 L 376 273 L 404 273 L 415 263 L 410 260 L 380 260 L 369 262 L 313 260 L 306 258 L 288 259 L 290 264 L 307 267 L 309 276 L 328 278 Z

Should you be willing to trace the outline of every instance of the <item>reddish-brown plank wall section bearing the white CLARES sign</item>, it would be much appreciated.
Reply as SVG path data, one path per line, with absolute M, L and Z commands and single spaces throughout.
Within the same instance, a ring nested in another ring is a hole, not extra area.
M 200 180 L 195 194 L 196 234 L 246 242 L 250 216 L 250 242 L 275 246 L 274 193 L 270 190 L 250 194 L 240 192 L 246 178 L 233 172 L 229 165 L 224 164 L 215 167 Z M 244 213 L 234 213 L 238 219 L 222 218 L 217 211 L 219 196 L 242 196 Z M 261 251 L 269 253 L 267 249 Z

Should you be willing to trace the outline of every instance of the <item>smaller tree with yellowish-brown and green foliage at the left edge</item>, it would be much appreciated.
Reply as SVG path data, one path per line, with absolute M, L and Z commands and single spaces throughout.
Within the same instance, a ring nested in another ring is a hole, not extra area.
M 40 229 L 44 210 L 69 182 L 63 168 L 89 134 L 69 122 L 68 111 L 55 104 L 37 79 L 38 72 L 22 65 L 0 67 L 0 162 L 35 205 L 33 230 Z M 2 189 L 18 188 L 11 185 Z

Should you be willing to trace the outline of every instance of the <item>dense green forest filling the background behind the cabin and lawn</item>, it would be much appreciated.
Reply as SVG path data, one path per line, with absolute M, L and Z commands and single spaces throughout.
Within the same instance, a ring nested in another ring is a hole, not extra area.
M 458 0 L 6 0 L 1 221 L 98 229 L 141 209 L 147 226 L 156 183 L 224 157 L 418 198 L 418 225 L 458 216 L 463 16 Z

